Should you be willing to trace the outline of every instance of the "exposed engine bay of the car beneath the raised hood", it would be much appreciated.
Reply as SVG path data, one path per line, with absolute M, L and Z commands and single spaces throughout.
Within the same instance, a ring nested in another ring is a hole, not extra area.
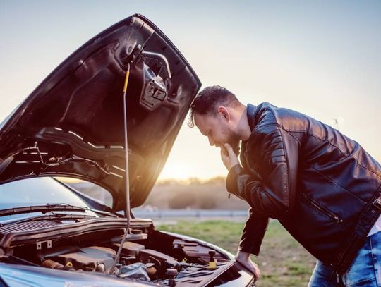
M 8 254 L 18 263 L 23 260 L 23 264 L 49 269 L 95 272 L 163 286 L 203 286 L 232 264 L 229 255 L 207 243 L 178 238 L 153 226 L 134 228 L 114 269 L 123 238 L 120 229 L 13 246 Z

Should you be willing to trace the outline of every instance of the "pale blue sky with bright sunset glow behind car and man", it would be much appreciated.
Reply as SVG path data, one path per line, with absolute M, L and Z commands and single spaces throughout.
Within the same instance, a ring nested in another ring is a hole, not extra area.
M 381 1 L 0 0 L 0 121 L 75 49 L 134 13 L 171 39 L 203 87 L 313 116 L 381 161 Z M 226 176 L 219 149 L 185 121 L 159 179 L 214 176 Z

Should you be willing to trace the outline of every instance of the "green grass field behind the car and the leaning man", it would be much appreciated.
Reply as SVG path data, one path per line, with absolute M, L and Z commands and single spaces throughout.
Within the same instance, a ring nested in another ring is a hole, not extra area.
M 179 221 L 157 229 L 186 234 L 206 240 L 235 254 L 243 223 L 231 221 Z M 261 276 L 258 287 L 307 286 L 315 259 L 299 245 L 278 221 L 271 221 L 260 256 L 252 257 Z

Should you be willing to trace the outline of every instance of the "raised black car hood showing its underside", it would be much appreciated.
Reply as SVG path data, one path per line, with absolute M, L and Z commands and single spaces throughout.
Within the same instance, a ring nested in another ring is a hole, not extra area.
M 1 124 L 0 183 L 35 176 L 80 178 L 109 190 L 115 211 L 125 209 L 128 65 L 131 207 L 143 204 L 201 83 L 169 39 L 140 15 L 90 39 Z

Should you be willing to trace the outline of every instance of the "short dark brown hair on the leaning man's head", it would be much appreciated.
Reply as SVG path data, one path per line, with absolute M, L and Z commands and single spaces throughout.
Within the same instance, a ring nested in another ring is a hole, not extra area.
M 191 104 L 188 126 L 195 126 L 195 114 L 217 114 L 217 106 L 236 106 L 239 101 L 235 94 L 219 85 L 205 87 L 198 93 Z

